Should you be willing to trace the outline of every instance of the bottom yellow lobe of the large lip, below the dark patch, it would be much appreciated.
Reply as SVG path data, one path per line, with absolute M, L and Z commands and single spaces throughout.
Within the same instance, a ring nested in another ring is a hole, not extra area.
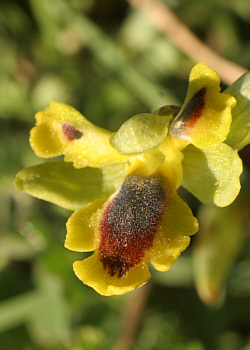
M 105 296 L 128 293 L 147 283 L 150 278 L 148 267 L 144 262 L 134 266 L 122 278 L 116 275 L 111 277 L 104 269 L 97 252 L 83 261 L 75 261 L 73 269 L 84 284 Z

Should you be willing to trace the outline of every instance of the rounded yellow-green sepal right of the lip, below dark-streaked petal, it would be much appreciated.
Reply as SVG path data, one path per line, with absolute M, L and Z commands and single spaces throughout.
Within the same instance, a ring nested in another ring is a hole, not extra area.
M 222 143 L 203 151 L 190 145 L 183 153 L 183 187 L 204 204 L 231 204 L 240 191 L 242 161 L 237 151 Z

